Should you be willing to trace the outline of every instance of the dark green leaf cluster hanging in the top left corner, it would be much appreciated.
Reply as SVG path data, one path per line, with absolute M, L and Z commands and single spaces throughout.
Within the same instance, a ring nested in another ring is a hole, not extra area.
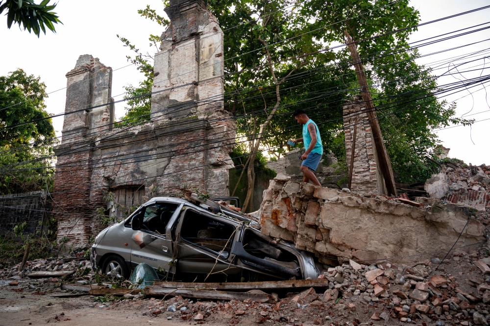
M 54 24 L 63 24 L 52 10 L 56 4 L 49 5 L 50 0 L 43 0 L 40 4 L 34 0 L 0 0 L 0 14 L 7 10 L 7 28 L 12 27 L 13 23 L 24 27 L 24 30 L 31 30 L 39 37 L 41 30 L 46 35 L 46 27 L 56 33 Z

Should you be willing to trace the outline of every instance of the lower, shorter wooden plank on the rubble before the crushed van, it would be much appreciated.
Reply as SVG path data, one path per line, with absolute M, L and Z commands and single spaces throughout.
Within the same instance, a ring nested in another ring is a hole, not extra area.
M 274 302 L 267 293 L 226 292 L 195 289 L 164 289 L 150 286 L 145 289 L 145 294 L 151 297 L 182 296 L 186 298 L 211 299 L 211 300 L 239 300 L 252 299 L 255 302 Z

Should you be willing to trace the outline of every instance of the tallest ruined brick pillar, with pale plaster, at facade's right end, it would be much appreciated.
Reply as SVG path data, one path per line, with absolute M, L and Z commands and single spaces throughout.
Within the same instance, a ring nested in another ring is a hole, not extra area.
M 189 118 L 196 119 L 196 125 L 206 123 L 202 139 L 209 144 L 209 150 L 194 153 L 193 160 L 172 158 L 166 171 L 198 167 L 202 162 L 196 156 L 203 155 L 207 166 L 177 179 L 211 196 L 227 196 L 236 124 L 223 108 L 223 32 L 202 0 L 171 0 L 165 11 L 171 24 L 161 36 L 161 51 L 155 54 L 153 92 L 158 93 L 151 97 L 151 118 L 155 123 Z M 204 184 L 199 181 L 202 177 Z

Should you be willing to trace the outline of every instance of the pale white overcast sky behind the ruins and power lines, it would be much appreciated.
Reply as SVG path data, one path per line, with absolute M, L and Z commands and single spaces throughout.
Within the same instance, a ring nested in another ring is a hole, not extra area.
M 116 34 L 126 37 L 133 42 L 142 52 L 153 54 L 155 48 L 149 46 L 147 38 L 149 34 L 160 35 L 163 30 L 156 23 L 152 23 L 140 17 L 138 9 L 149 4 L 158 12 L 163 12 L 161 0 L 86 0 L 68 1 L 60 0 L 56 12 L 59 14 L 64 25 L 56 26 L 56 34 L 47 32 L 38 39 L 34 34 L 20 31 L 18 27 L 6 28 L 6 18 L 0 17 L 0 40 L 2 50 L 0 51 L 0 75 L 6 75 L 17 68 L 22 68 L 27 74 L 41 76 L 41 80 L 47 85 L 47 91 L 53 92 L 66 87 L 65 74 L 73 69 L 76 59 L 80 54 L 92 54 L 100 61 L 112 67 L 114 70 L 128 65 L 126 55 L 132 53 L 123 47 Z M 488 0 L 412 0 L 411 4 L 420 11 L 421 22 L 453 15 L 459 12 L 475 9 L 489 4 Z M 419 28 L 411 38 L 412 41 L 425 39 L 447 33 L 471 25 L 488 22 L 490 9 L 471 13 L 434 23 Z M 438 43 L 434 46 L 423 47 L 421 54 L 432 53 L 437 50 L 465 45 L 490 37 L 488 30 Z M 478 45 L 466 47 L 460 50 L 450 51 L 437 55 L 431 55 L 419 60 L 419 63 L 428 64 L 448 57 L 461 55 L 467 52 L 490 48 L 490 41 Z M 473 63 L 482 64 L 483 61 Z M 490 59 L 486 61 L 490 67 Z M 434 65 L 434 64 L 432 64 Z M 471 65 L 468 65 L 469 67 Z M 452 68 L 449 67 L 449 68 Z M 481 68 L 481 66 L 480 66 Z M 444 69 L 447 71 L 447 64 Z M 465 69 L 465 66 L 459 67 Z M 475 68 L 468 68 L 475 69 Z M 438 70 L 438 75 L 444 70 Z M 458 79 L 472 78 L 480 75 L 480 72 L 464 73 L 441 78 L 439 84 L 458 81 Z M 489 70 L 484 70 L 483 75 L 488 75 Z M 115 100 L 122 99 L 118 96 L 124 92 L 123 86 L 128 84 L 137 85 L 144 76 L 136 71 L 133 66 L 115 71 L 113 74 L 112 94 Z M 458 117 L 469 112 L 465 117 L 475 120 L 490 119 L 490 105 L 486 100 L 485 90 L 482 87 L 449 95 L 445 99 L 457 101 Z M 490 91 L 490 88 L 487 87 Z M 475 92 L 476 91 L 476 92 Z M 463 97 L 463 98 L 461 98 Z M 490 103 L 490 94 L 488 97 Z M 53 114 L 63 113 L 65 109 L 66 91 L 61 90 L 49 95 L 46 100 L 48 112 Z M 487 112 L 485 112 L 487 111 Z M 482 113 L 479 113 L 482 112 Z M 477 113 L 477 114 L 475 114 Z M 470 114 L 473 114 L 469 116 Z M 124 115 L 123 103 L 116 104 L 116 117 Z M 61 133 L 63 117 L 54 118 L 53 124 L 57 134 Z M 443 146 L 451 149 L 450 157 L 463 159 L 466 163 L 490 165 L 489 135 L 490 120 L 474 124 L 471 128 L 458 126 L 438 131 Z M 474 143 L 474 144 L 473 144 Z

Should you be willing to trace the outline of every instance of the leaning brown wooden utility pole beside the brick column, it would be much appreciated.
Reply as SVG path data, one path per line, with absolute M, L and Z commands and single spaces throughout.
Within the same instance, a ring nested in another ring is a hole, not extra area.
M 378 158 L 377 163 L 379 165 L 379 170 L 383 175 L 383 179 L 385 180 L 386 190 L 388 191 L 387 195 L 396 195 L 392 164 L 383 141 L 383 135 L 381 134 L 381 129 L 379 127 L 378 117 L 376 116 L 376 111 L 374 110 L 374 105 L 372 103 L 371 93 L 369 93 L 368 82 L 364 73 L 364 66 L 361 62 L 359 53 L 357 52 L 357 45 L 352 41 L 352 38 L 347 30 L 344 31 L 344 34 L 347 47 L 349 48 L 350 55 L 352 56 L 352 64 L 356 68 L 357 80 L 359 81 L 359 86 L 361 86 L 361 95 L 366 103 L 366 114 L 368 115 L 369 125 L 371 126 L 371 133 L 376 148 L 376 155 Z

